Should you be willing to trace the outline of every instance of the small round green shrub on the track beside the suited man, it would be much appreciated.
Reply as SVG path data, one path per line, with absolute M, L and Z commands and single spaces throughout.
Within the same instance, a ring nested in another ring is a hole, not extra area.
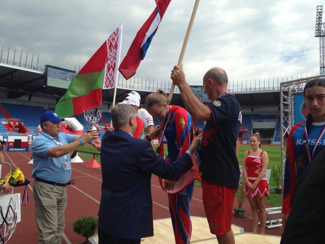
M 83 241 L 81 243 L 86 244 L 88 242 L 88 237 L 92 236 L 97 229 L 97 223 L 98 220 L 91 216 L 81 217 L 73 223 L 73 231 L 78 235 L 86 237 L 86 241 Z

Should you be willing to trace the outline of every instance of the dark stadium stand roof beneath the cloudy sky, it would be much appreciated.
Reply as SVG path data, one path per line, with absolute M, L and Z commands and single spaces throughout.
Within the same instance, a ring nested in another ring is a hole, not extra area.
M 2 62 L 3 61 L 4 59 L 2 59 Z M 8 92 L 9 99 L 17 99 L 23 95 L 28 94 L 30 96 L 29 100 L 31 99 L 32 95 L 39 95 L 53 97 L 58 101 L 64 95 L 64 93 L 66 93 L 67 89 L 46 85 L 46 75 L 44 68 L 35 66 L 27 66 L 25 68 L 25 65 L 21 66 L 23 67 L 19 67 L 18 64 L 0 64 L 0 89 L 6 90 Z M 144 87 L 133 86 L 131 85 L 131 82 L 128 85 L 125 81 L 121 86 L 118 86 L 117 88 L 116 103 L 123 101 L 123 95 L 125 93 L 128 93 L 131 90 L 136 90 L 141 96 L 141 104 L 144 104 L 146 97 L 156 90 L 156 87 L 150 87 L 150 89 L 141 89 Z M 103 90 L 102 94 L 103 103 L 111 104 L 113 102 L 114 89 Z M 244 107 L 279 106 L 280 104 L 279 90 L 244 91 L 238 93 L 236 92 L 235 95 L 241 106 Z M 172 104 L 184 106 L 182 97 L 177 89 L 174 92 Z

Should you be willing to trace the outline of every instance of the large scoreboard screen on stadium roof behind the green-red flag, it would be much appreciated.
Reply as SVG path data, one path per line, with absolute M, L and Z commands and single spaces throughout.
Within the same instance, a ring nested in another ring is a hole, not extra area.
M 45 66 L 46 85 L 68 89 L 71 81 L 77 73 L 72 70 L 57 68 L 54 66 Z

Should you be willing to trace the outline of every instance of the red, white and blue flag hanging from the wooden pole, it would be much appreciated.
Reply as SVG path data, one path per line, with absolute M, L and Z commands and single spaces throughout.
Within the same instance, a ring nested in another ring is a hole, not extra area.
M 145 57 L 148 47 L 154 34 L 157 31 L 158 25 L 163 19 L 167 7 L 171 0 L 155 0 L 156 9 L 152 12 L 147 21 L 142 25 L 136 38 L 133 40 L 126 56 L 124 57 L 119 72 L 125 79 L 129 79 L 135 75 L 141 60 Z

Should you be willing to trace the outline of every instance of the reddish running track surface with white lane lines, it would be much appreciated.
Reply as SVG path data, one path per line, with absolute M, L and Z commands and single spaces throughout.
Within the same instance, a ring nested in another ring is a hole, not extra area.
M 35 222 L 34 197 L 32 195 L 32 184 L 34 180 L 31 178 L 32 164 L 27 164 L 31 158 L 29 152 L 16 151 L 4 153 L 6 162 L 10 163 L 12 167 L 19 167 L 25 177 L 30 180 L 30 185 L 27 187 L 29 196 L 29 203 L 27 206 L 21 205 L 21 222 L 17 224 L 15 234 L 9 243 L 37 243 L 38 229 Z M 84 237 L 73 232 L 72 224 L 74 221 L 83 216 L 93 216 L 98 218 L 99 203 L 101 200 L 101 184 L 102 171 L 96 168 L 86 168 L 90 160 L 85 160 L 85 163 L 72 163 L 72 174 L 76 184 L 68 186 L 68 204 L 65 212 L 66 228 L 62 243 L 78 243 Z M 3 166 L 2 175 L 7 173 L 6 166 Z M 167 193 L 160 189 L 158 178 L 152 176 L 152 201 L 153 201 L 153 218 L 163 219 L 169 218 L 168 198 Z M 23 188 L 14 189 L 15 193 L 22 193 Z M 246 201 L 247 216 L 244 219 L 233 217 L 233 224 L 243 227 L 246 232 L 252 231 L 251 227 L 251 210 L 249 203 Z M 271 207 L 271 206 L 267 206 Z M 206 217 L 203 202 L 202 202 L 202 188 L 194 187 L 193 197 L 191 201 L 191 215 L 198 217 Z M 172 227 L 171 227 L 172 231 Z M 266 229 L 266 234 L 282 235 L 282 228 Z

